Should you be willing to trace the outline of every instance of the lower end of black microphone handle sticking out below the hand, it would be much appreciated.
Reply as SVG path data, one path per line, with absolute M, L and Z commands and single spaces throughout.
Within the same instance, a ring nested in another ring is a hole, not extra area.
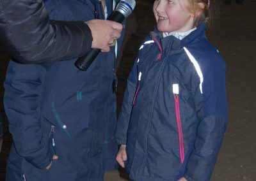
M 75 62 L 76 67 L 79 68 L 81 71 L 86 71 L 89 68 L 90 64 L 92 64 L 94 59 L 100 53 L 100 51 L 100 49 L 91 49 L 88 54 L 83 55 L 83 57 L 79 57 L 79 59 L 77 59 L 77 61 Z

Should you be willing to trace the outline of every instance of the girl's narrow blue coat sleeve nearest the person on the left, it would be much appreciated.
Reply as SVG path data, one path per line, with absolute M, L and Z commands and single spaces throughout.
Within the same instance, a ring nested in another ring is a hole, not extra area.
M 127 78 L 127 87 L 124 93 L 124 99 L 122 103 L 122 108 L 118 116 L 118 121 L 116 125 L 116 141 L 118 144 L 126 145 L 127 129 L 129 126 L 130 115 L 132 110 L 132 99 L 136 91 L 137 85 L 137 61 L 134 62 L 134 66 Z

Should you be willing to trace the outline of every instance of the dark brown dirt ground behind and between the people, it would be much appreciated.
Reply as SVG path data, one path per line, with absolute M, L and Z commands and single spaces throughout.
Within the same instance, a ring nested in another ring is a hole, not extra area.
M 122 103 L 126 78 L 140 43 L 154 26 L 152 3 L 150 0 L 137 0 L 135 10 L 127 18 L 124 48 L 118 68 L 118 109 Z M 237 5 L 232 0 L 231 5 L 225 5 L 221 0 L 214 1 L 212 23 L 207 37 L 227 63 L 228 96 L 228 127 L 211 180 L 256 181 L 256 2 L 244 0 L 244 4 Z M 3 50 L 0 51 L 0 59 L 0 91 L 3 93 L 8 62 Z M 3 94 L 0 98 L 2 101 Z M 6 159 L 12 141 L 3 103 L 0 108 L 5 125 L 0 155 L 0 180 L 4 180 Z M 125 177 L 124 170 L 113 171 L 106 173 L 105 180 L 126 180 Z

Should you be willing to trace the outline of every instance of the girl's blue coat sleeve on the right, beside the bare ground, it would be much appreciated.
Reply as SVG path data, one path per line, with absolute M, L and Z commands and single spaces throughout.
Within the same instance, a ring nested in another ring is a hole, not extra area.
M 191 181 L 210 180 L 227 127 L 225 65 L 216 63 L 205 72 L 201 91 L 199 85 L 192 89 L 200 122 L 186 166 Z

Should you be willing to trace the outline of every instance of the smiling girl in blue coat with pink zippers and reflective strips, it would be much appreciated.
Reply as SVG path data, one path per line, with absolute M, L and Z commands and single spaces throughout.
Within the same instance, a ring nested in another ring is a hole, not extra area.
M 157 30 L 127 80 L 116 156 L 132 180 L 210 180 L 227 125 L 225 62 L 207 0 L 156 0 Z

